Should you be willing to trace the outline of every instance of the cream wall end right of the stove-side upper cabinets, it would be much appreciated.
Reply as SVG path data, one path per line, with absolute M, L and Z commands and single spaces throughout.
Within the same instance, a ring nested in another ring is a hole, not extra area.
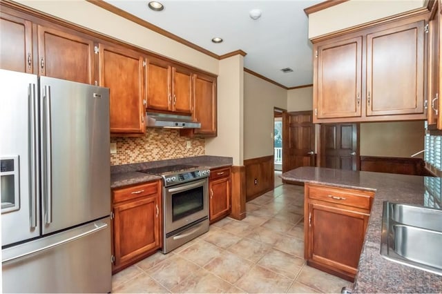
M 218 137 L 206 139 L 206 155 L 233 157 L 234 166 L 244 159 L 244 57 L 220 60 L 218 76 Z

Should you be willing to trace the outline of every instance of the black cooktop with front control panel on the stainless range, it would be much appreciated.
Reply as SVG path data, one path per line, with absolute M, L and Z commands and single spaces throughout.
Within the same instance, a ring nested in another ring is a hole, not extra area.
M 191 182 L 196 179 L 209 177 L 210 170 L 192 166 L 190 164 L 175 164 L 173 166 L 158 166 L 156 168 L 146 168 L 138 170 L 140 173 L 148 173 L 150 175 L 160 175 L 164 179 L 164 186 L 172 186 Z

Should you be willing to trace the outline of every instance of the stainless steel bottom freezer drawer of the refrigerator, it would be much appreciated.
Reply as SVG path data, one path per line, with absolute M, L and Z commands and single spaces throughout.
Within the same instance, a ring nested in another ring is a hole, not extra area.
M 3 293 L 110 293 L 106 217 L 2 251 Z

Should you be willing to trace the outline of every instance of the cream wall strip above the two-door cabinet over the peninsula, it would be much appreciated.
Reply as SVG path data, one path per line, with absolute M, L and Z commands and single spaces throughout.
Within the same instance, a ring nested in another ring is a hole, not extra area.
M 350 0 L 309 14 L 309 39 L 422 8 L 425 0 Z

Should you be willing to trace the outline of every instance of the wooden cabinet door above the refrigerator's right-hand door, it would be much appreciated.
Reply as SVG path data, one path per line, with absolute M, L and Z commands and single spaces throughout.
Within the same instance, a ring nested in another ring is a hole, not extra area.
M 94 43 L 67 32 L 38 26 L 39 75 L 94 84 Z

